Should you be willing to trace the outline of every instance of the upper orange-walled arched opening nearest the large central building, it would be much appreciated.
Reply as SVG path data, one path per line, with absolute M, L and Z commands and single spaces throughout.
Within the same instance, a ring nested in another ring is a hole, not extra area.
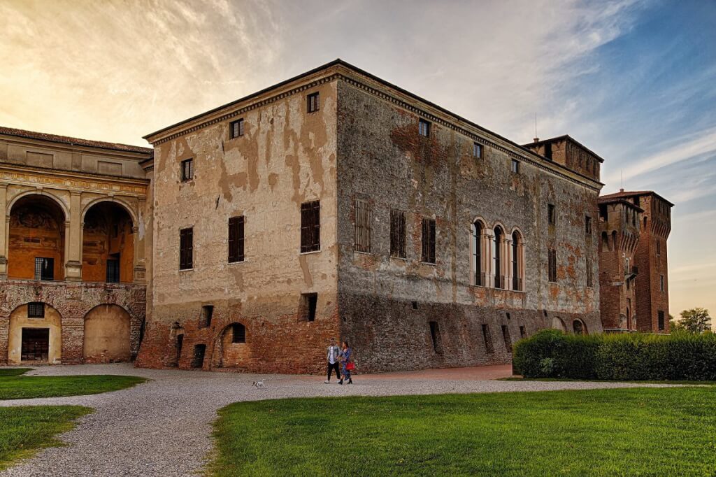
M 115 202 L 99 202 L 87 210 L 82 234 L 82 280 L 134 281 L 133 227 L 130 214 Z

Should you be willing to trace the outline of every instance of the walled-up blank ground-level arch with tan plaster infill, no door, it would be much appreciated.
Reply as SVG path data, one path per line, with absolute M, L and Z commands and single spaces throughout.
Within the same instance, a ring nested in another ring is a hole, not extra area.
M 131 322 L 127 311 L 102 304 L 84 316 L 84 362 L 120 362 L 132 358 Z

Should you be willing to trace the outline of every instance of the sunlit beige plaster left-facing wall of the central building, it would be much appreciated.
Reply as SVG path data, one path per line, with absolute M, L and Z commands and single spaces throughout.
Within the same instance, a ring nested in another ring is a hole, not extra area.
M 312 92 L 320 93 L 320 110 L 309 114 Z M 241 322 L 246 352 L 229 353 L 223 367 L 324 366 L 324 344 L 338 332 L 335 112 L 335 83 L 327 82 L 246 112 L 239 138 L 229 138 L 225 120 L 155 146 L 153 310 L 137 365 L 190 367 L 194 347 L 204 344 L 203 367 L 216 367 L 223 330 Z M 195 175 L 181 182 L 180 163 L 188 158 Z M 301 203 L 313 200 L 321 201 L 321 251 L 301 254 Z M 228 218 L 241 215 L 246 259 L 228 264 Z M 188 227 L 193 269 L 179 271 L 179 231 Z M 314 322 L 299 312 L 307 292 L 318 294 Z M 206 304 L 213 319 L 200 328 Z

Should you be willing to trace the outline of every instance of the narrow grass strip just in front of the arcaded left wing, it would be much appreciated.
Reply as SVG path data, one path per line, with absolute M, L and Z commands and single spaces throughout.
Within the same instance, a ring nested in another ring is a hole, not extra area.
M 97 394 L 132 387 L 145 378 L 136 376 L 21 376 L 28 368 L 0 370 L 0 400 Z

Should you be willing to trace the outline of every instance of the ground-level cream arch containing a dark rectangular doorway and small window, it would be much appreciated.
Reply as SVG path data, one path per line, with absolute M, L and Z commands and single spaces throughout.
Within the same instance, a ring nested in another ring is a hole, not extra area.
M 44 302 L 20 305 L 10 314 L 9 365 L 49 363 L 62 357 L 62 316 Z

